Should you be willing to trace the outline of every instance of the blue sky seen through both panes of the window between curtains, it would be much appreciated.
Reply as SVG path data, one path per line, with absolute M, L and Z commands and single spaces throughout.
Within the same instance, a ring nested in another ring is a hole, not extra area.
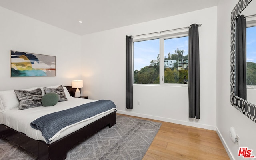
M 140 70 L 150 65 L 151 60 L 156 60 L 159 54 L 159 39 L 134 42 L 134 70 Z M 164 56 L 174 54 L 176 49 L 184 50 L 183 56 L 188 54 L 188 37 L 164 40 Z

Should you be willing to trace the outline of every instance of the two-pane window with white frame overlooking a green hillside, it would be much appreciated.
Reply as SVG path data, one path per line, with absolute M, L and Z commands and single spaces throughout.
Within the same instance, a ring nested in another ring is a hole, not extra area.
M 188 83 L 188 32 L 135 39 L 134 84 Z

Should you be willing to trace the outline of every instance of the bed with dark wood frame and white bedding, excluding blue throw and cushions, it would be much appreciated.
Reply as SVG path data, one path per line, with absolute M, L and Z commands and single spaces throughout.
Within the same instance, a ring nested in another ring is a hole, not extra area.
M 60 85 L 51 87 L 56 88 L 57 86 L 59 87 Z M 24 110 L 19 110 L 19 108 L 4 109 L 3 104 L 6 104 L 4 102 L 6 97 L 4 96 L 11 91 L 0 91 L 0 136 L 35 154 L 40 160 L 64 160 L 68 150 L 105 126 L 112 127 L 116 124 L 116 108 L 111 108 L 68 126 L 56 133 L 50 141 L 47 140 L 42 136 L 40 130 L 30 126 L 30 122 L 44 115 L 47 116 L 52 112 L 56 113 L 69 108 L 78 108 L 76 106 L 84 105 L 84 103 L 99 102 L 97 100 L 72 97 L 74 96 L 74 89 L 71 86 L 63 87 L 63 89 L 67 97 L 66 101 L 58 102 L 50 107 L 39 106 Z M 34 88 L 28 90 L 34 90 Z M 43 92 L 42 88 L 41 90 Z M 13 93 L 12 96 L 14 96 Z M 8 102 L 9 100 L 10 96 L 8 96 Z M 8 105 L 6 104 L 6 106 Z

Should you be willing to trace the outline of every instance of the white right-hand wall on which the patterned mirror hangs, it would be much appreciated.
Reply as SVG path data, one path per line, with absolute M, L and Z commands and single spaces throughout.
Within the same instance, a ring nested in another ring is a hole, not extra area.
M 240 137 L 240 147 L 256 154 L 256 123 L 230 105 L 230 14 L 238 0 L 222 0 L 218 4 L 217 25 L 217 132 L 234 160 L 238 145 L 230 140 L 229 129 L 234 126 Z

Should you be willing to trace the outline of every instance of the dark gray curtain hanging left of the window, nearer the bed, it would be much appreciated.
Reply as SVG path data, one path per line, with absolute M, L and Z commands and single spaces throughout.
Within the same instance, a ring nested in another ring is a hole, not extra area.
M 132 36 L 126 36 L 126 108 L 133 108 Z

